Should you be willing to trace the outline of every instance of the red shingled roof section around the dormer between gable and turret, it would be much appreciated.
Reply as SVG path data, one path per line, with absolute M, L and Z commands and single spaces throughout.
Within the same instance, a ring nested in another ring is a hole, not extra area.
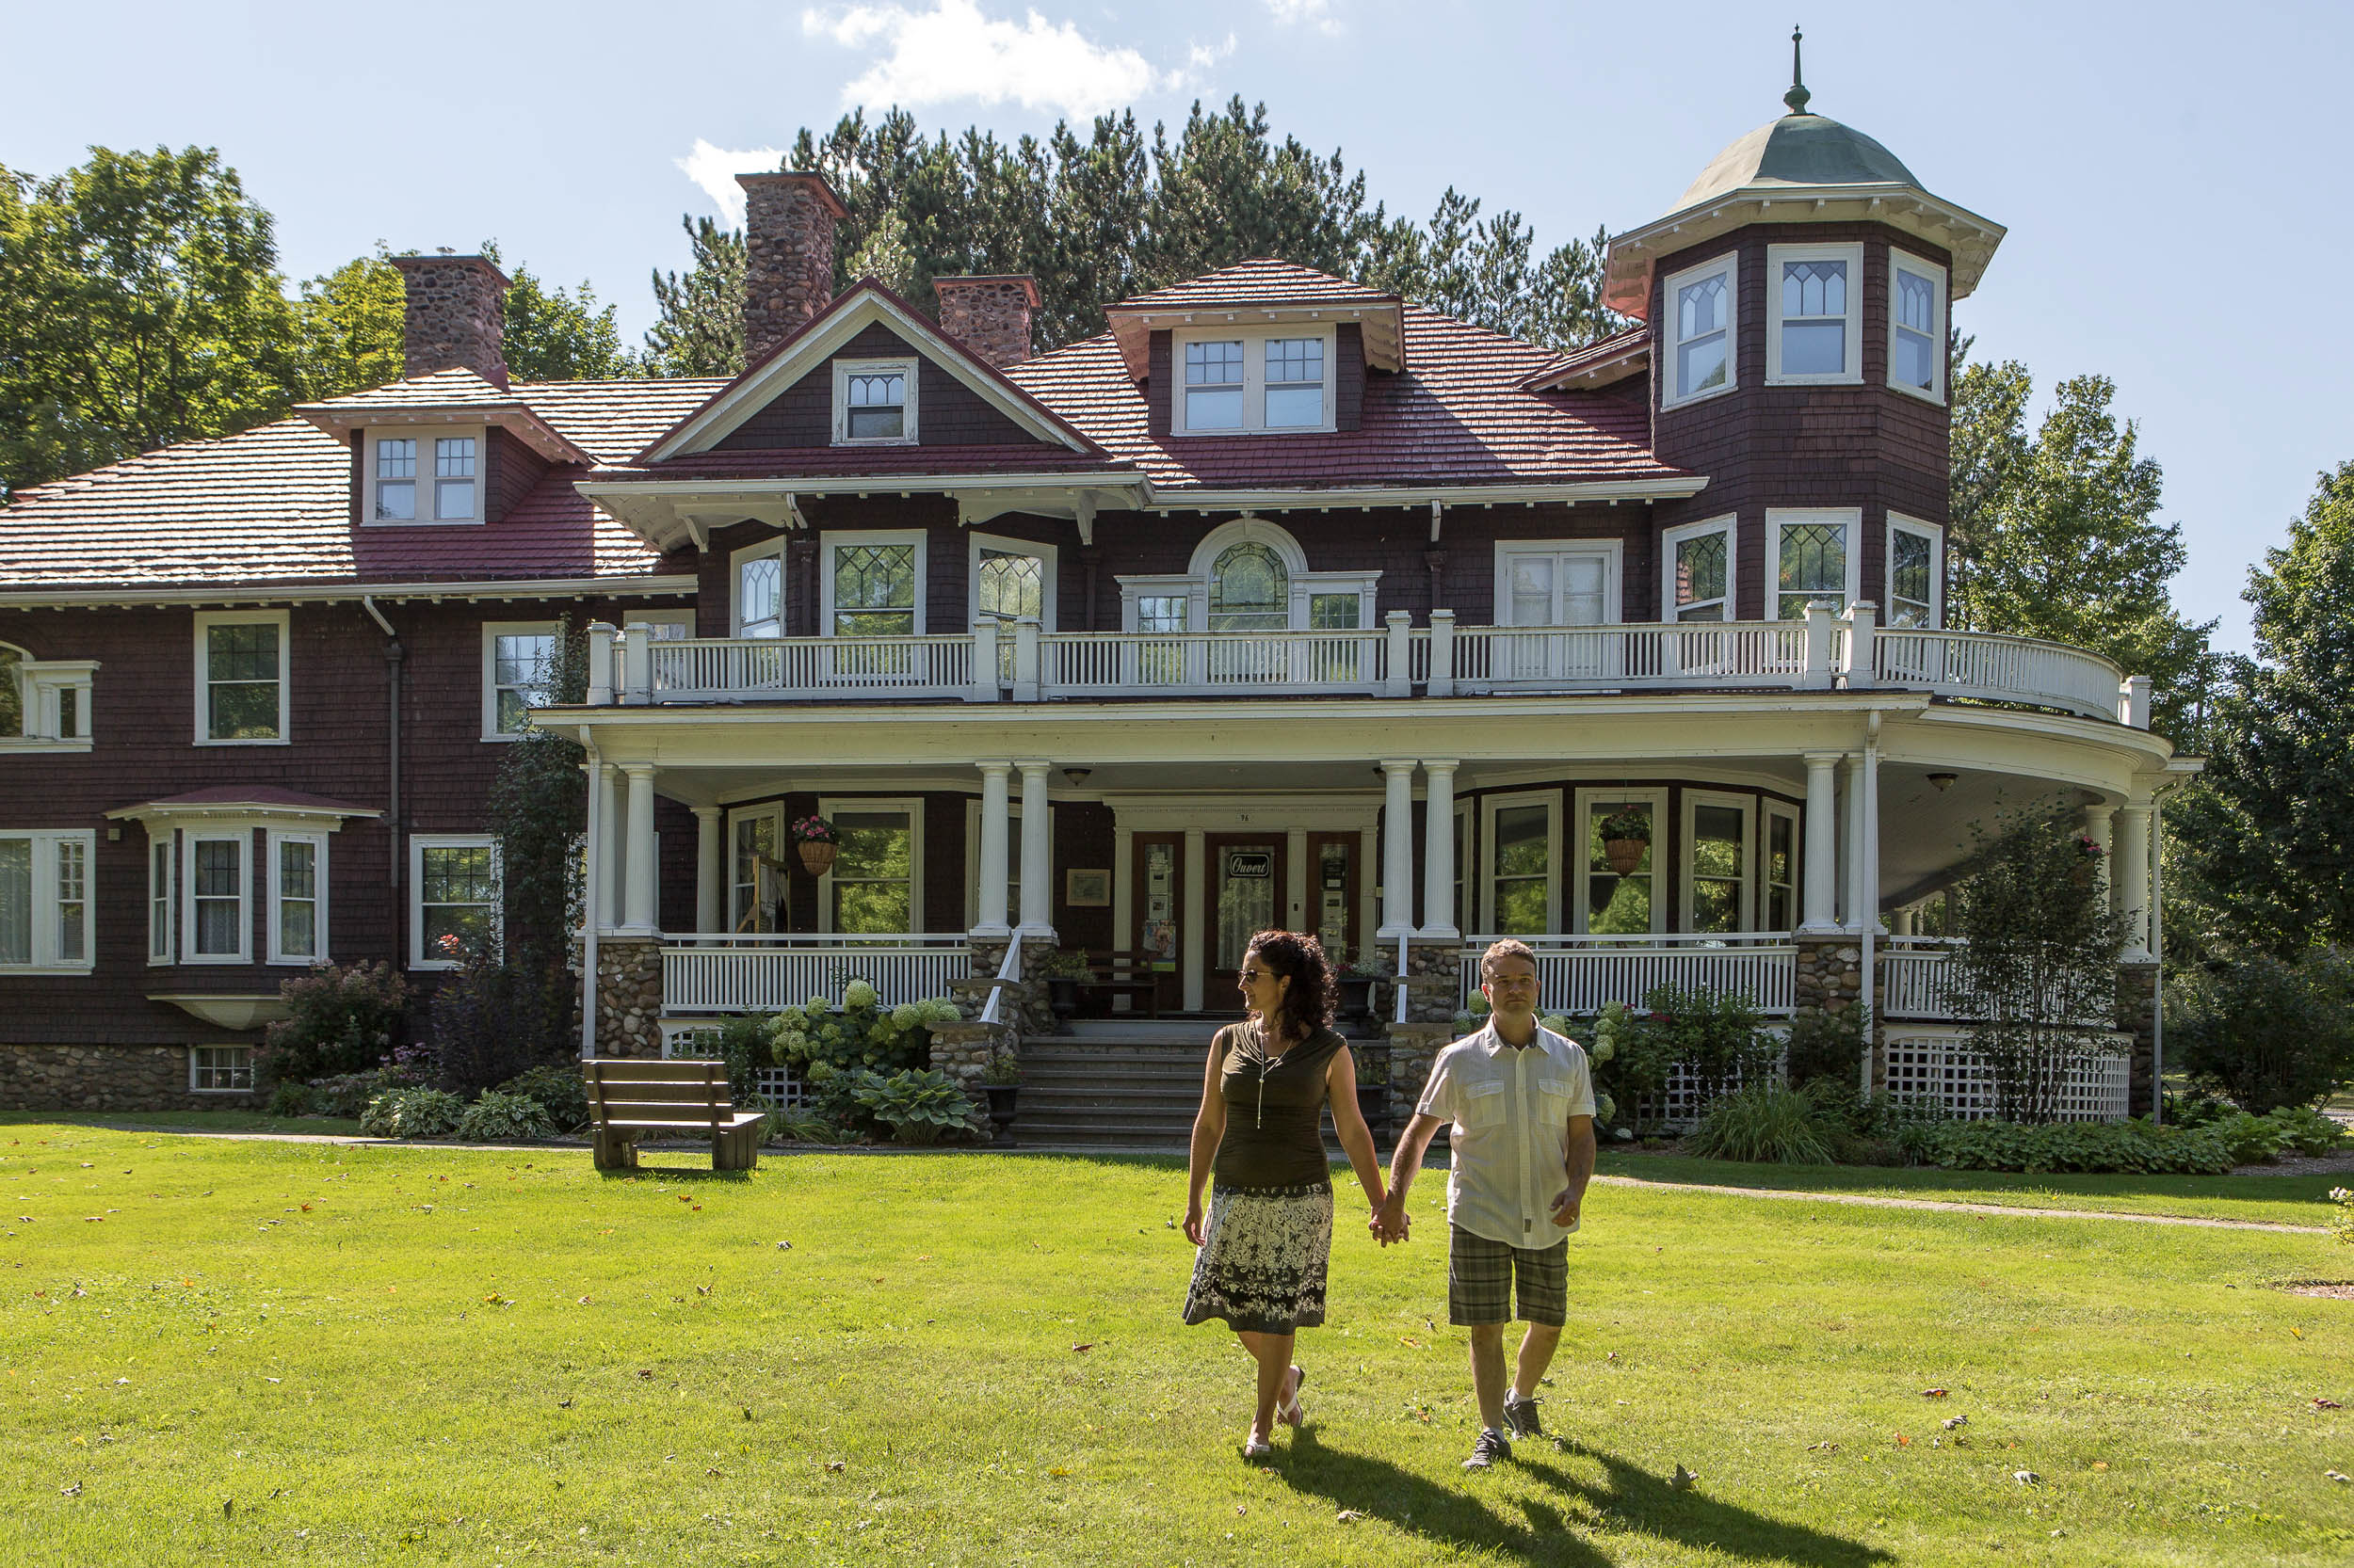
M 1521 381 L 1561 356 L 1405 306 L 1401 374 L 1368 374 L 1356 431 L 1297 436 L 1151 436 L 1144 388 L 1111 334 L 1045 353 L 1008 374 L 1135 461 L 1156 490 L 1511 485 L 1678 478 L 1650 454 L 1641 400 L 1532 393 Z

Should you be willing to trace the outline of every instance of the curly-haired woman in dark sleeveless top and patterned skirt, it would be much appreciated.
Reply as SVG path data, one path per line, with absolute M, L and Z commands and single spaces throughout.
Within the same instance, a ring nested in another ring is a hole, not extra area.
M 1332 1034 L 1332 970 L 1316 937 L 1262 930 L 1243 951 L 1243 1005 L 1250 1017 L 1210 1041 L 1186 1165 L 1184 1234 L 1193 1288 L 1184 1321 L 1224 1318 L 1257 1363 L 1259 1401 L 1243 1457 L 1274 1453 L 1281 1417 L 1299 1427 L 1292 1333 L 1323 1323 L 1325 1262 L 1332 1255 L 1332 1165 L 1323 1107 L 1349 1154 L 1365 1201 L 1379 1210 L 1382 1168 L 1356 1109 L 1356 1064 Z M 1217 1175 L 1208 1224 L 1203 1187 Z

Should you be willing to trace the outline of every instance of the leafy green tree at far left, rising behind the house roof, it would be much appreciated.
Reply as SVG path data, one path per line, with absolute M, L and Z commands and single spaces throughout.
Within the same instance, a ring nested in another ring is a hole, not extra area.
M 212 148 L 0 167 L 0 492 L 285 412 L 271 214 Z

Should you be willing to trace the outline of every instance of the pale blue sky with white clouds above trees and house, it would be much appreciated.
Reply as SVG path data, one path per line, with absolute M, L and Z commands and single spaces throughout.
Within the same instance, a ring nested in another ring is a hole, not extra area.
M 2175 596 L 2243 647 L 2248 563 L 2314 471 L 2354 457 L 2354 7 L 0 0 L 0 162 L 217 146 L 278 214 L 294 278 L 379 238 L 497 238 L 551 283 L 588 278 L 636 341 L 647 271 L 685 259 L 678 214 L 716 210 L 704 186 L 857 104 L 1017 137 L 1243 94 L 1278 132 L 1339 146 L 1391 210 L 1427 217 L 1455 184 L 1549 247 L 1667 212 L 1780 113 L 1794 14 L 1817 113 L 2010 228 L 1959 325 L 2039 386 L 2116 379 L 2187 530 Z

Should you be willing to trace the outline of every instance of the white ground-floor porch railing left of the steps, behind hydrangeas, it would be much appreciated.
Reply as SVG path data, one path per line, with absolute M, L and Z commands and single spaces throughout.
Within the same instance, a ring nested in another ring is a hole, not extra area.
M 777 1012 L 812 996 L 843 998 L 852 979 L 876 989 L 885 1008 L 949 996 L 972 977 L 963 932 L 866 937 L 694 937 L 661 939 L 664 1012 Z

